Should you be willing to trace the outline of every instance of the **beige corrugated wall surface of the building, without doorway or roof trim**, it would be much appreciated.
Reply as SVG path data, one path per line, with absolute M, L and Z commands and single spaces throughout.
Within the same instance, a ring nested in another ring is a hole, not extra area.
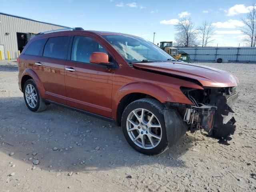
M 10 51 L 10 58 L 17 58 L 17 32 L 39 33 L 62 28 L 64 27 L 0 14 L 0 44 L 4 45 L 5 49 L 5 56 L 3 55 L 3 58 L 7 58 L 7 51 Z M 10 34 L 6 35 L 6 33 Z

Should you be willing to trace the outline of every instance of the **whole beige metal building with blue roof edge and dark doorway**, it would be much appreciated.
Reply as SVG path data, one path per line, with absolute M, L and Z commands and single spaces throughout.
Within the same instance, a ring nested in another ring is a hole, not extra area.
M 0 50 L 2 51 L 2 57 L 7 59 L 7 51 L 9 51 L 10 58 L 17 58 L 18 50 L 22 52 L 25 44 L 35 34 L 63 28 L 68 27 L 0 12 Z

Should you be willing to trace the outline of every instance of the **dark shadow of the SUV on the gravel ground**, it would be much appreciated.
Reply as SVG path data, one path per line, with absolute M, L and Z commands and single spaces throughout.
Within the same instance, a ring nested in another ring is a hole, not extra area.
M 5 154 L 14 152 L 12 158 L 24 160 L 31 167 L 28 158 L 38 159 L 38 166 L 45 170 L 86 172 L 144 164 L 186 166 L 180 157 L 194 142 L 185 135 L 163 154 L 146 156 L 128 145 L 120 127 L 60 106 L 51 104 L 46 111 L 35 113 L 26 108 L 22 97 L 10 97 L 0 98 L 0 111 L 0 150 Z M 52 150 L 54 147 L 58 150 Z M 33 152 L 37 154 L 32 156 Z M 82 161 L 84 164 L 80 164 Z

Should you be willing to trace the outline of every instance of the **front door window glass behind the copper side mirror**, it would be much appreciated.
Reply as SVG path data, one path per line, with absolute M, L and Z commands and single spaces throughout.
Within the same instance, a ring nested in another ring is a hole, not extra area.
M 72 45 L 71 60 L 90 63 L 92 52 L 108 52 L 94 39 L 85 36 L 75 36 Z

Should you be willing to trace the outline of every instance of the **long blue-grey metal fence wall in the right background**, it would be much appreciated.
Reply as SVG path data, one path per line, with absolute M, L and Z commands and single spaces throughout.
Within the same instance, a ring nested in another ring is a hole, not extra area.
M 222 58 L 230 62 L 256 63 L 256 47 L 190 47 L 178 50 L 190 54 L 191 61 L 215 61 Z

